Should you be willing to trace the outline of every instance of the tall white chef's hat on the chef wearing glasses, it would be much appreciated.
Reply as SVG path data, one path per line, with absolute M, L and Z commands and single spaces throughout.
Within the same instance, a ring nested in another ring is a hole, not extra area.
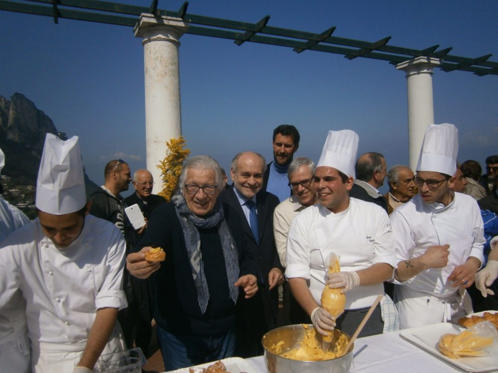
M 453 176 L 457 172 L 458 129 L 453 124 L 430 124 L 418 157 L 416 171 Z

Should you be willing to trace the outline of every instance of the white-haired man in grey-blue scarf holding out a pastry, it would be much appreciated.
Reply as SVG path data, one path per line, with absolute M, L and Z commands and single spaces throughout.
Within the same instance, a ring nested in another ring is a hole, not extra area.
M 250 298 L 257 291 L 242 222 L 218 198 L 222 187 L 218 162 L 188 159 L 176 194 L 154 210 L 136 252 L 126 259 L 130 274 L 153 288 L 167 371 L 233 356 L 239 292 Z M 164 262 L 145 260 L 152 246 L 164 249 Z

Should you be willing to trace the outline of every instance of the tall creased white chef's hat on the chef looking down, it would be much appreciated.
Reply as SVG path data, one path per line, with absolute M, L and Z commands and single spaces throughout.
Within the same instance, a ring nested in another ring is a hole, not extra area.
M 63 215 L 82 209 L 86 202 L 78 136 L 63 141 L 47 133 L 36 181 L 36 207 Z

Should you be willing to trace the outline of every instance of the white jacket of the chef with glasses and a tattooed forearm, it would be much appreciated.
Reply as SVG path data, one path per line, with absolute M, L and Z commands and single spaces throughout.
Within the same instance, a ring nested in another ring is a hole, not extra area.
M 448 264 L 444 268 L 430 268 L 403 281 L 411 290 L 445 299 L 458 287 L 446 279 L 456 266 L 472 256 L 484 262 L 484 227 L 481 210 L 476 200 L 463 193 L 455 193 L 447 206 L 428 204 L 419 194 L 398 207 L 390 216 L 394 231 L 394 248 L 397 262 L 416 258 L 429 246 L 450 245 Z

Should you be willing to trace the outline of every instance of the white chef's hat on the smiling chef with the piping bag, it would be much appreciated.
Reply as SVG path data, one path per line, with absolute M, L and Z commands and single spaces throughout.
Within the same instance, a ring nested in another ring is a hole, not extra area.
M 316 167 L 333 167 L 348 177 L 355 179 L 359 140 L 357 133 L 350 129 L 329 131 Z

